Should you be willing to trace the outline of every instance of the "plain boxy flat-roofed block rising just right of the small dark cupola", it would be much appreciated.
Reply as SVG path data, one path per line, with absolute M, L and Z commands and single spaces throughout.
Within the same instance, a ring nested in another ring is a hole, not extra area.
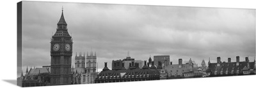
M 154 62 L 156 66 L 159 66 L 157 62 L 161 62 L 164 64 L 164 66 L 167 66 L 170 64 L 170 55 L 154 55 Z

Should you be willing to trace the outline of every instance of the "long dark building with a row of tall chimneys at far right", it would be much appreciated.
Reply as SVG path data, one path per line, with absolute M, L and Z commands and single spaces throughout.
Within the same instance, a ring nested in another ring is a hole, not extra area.
M 236 56 L 236 62 L 221 62 L 221 58 L 217 57 L 217 62 L 208 62 L 208 69 L 206 71 L 208 77 L 221 77 L 230 75 L 255 75 L 255 59 L 250 62 L 248 57 L 245 61 L 240 61 L 240 57 Z

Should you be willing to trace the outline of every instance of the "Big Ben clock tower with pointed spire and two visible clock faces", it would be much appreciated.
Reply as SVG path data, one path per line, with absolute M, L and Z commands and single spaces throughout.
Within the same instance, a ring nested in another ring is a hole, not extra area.
M 51 38 L 51 85 L 71 84 L 72 38 L 61 13 L 56 33 Z

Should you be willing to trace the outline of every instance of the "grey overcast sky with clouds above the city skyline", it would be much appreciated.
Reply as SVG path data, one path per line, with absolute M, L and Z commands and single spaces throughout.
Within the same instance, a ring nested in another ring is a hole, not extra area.
M 191 58 L 240 61 L 255 57 L 255 10 L 191 8 L 118 4 L 23 2 L 23 72 L 26 66 L 51 65 L 52 33 L 56 32 L 61 6 L 76 52 L 97 52 L 99 69 L 104 62 L 124 59 L 127 51 L 136 60 L 170 55 L 170 61 Z

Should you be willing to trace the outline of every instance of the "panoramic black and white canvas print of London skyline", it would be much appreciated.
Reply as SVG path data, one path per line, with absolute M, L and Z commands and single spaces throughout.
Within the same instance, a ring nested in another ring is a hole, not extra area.
M 255 75 L 255 9 L 21 1 L 17 14 L 20 87 Z

